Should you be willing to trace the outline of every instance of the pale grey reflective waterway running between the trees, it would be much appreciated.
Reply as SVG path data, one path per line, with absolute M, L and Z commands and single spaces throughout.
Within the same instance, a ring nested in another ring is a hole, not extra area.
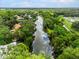
M 36 32 L 34 33 L 35 40 L 33 41 L 33 53 L 39 54 L 44 53 L 45 56 L 50 56 L 52 58 L 52 48 L 49 45 L 50 40 L 48 38 L 47 33 L 43 31 L 43 18 L 37 16 L 38 20 L 36 20 Z

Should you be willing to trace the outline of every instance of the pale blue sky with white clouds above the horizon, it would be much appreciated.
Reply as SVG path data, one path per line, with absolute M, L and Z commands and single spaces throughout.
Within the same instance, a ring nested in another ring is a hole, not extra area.
M 0 0 L 0 8 L 79 8 L 79 0 Z

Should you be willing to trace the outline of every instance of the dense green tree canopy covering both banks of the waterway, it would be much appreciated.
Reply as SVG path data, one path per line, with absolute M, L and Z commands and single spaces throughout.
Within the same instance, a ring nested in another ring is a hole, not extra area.
M 42 54 L 32 54 L 35 20 L 37 15 L 44 19 L 44 31 L 48 33 L 56 59 L 79 58 L 79 22 L 68 22 L 52 10 L 0 10 L 0 45 L 17 41 L 10 47 L 7 59 L 45 59 Z M 16 28 L 18 24 L 19 28 Z

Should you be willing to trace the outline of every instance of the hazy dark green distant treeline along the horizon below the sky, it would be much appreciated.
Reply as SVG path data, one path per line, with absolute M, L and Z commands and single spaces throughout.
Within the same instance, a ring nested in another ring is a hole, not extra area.
M 58 15 L 64 15 L 65 17 L 78 17 L 79 8 L 0 8 L 10 10 L 52 10 Z

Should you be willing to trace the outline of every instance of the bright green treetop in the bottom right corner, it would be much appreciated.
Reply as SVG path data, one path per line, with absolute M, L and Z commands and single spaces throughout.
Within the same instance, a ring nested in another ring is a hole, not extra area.
M 79 59 L 79 48 L 66 48 L 57 59 Z

